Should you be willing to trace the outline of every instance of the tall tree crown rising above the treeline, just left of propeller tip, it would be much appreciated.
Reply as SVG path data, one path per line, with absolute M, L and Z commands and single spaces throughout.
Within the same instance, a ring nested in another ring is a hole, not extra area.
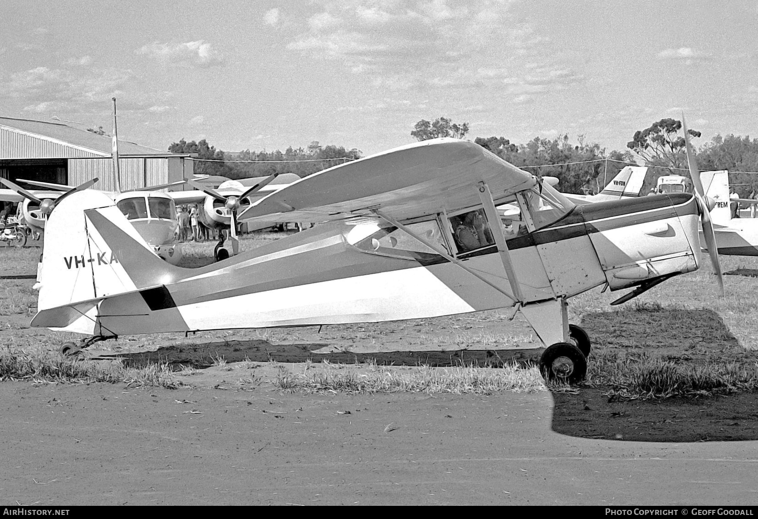
M 679 137 L 681 121 L 672 118 L 654 122 L 649 128 L 634 132 L 634 139 L 626 145 L 650 165 L 668 168 L 674 173 L 675 169 L 686 168 L 687 158 L 684 154 L 684 137 Z M 700 132 L 688 130 L 693 137 L 700 137 Z

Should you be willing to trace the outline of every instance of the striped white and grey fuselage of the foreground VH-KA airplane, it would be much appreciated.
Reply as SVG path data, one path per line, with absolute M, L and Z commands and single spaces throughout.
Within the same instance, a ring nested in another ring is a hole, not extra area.
M 33 326 L 127 335 L 381 322 L 512 306 L 499 289 L 509 281 L 495 246 L 456 255 L 483 280 L 439 254 L 372 246 L 371 233 L 380 236 L 386 225 L 334 222 L 221 263 L 180 269 L 152 262 L 99 211 L 85 214 L 88 232 L 99 234 L 89 248 L 102 254 L 102 265 L 86 253 L 75 265 L 94 276 L 76 288 L 77 300 L 88 301 L 71 312 L 40 312 Z M 539 304 L 606 283 L 619 290 L 697 269 L 697 222 L 689 194 L 644 197 L 577 206 L 507 245 L 525 304 Z M 61 276 L 76 276 L 70 258 L 79 254 L 64 254 L 67 264 L 64 257 L 50 261 Z M 99 285 L 100 273 L 111 268 L 130 278 L 130 293 L 108 296 L 108 283 Z M 41 307 L 53 306 L 42 304 L 42 292 L 40 298 Z

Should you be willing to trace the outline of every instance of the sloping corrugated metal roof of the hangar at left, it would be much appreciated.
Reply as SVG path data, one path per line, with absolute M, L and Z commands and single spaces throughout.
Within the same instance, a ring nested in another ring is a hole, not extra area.
M 61 159 L 86 156 L 89 153 L 92 153 L 93 156 L 111 156 L 111 137 L 93 134 L 91 131 L 70 127 L 58 121 L 33 121 L 32 119 L 0 117 L 0 130 L 16 131 L 16 133 L 20 132 L 20 134 L 27 134 L 30 137 L 54 143 L 56 146 L 49 149 L 55 149 L 55 153 L 60 154 Z M 67 151 L 66 147 L 77 148 L 79 153 L 74 152 L 74 150 Z M 0 150 L 0 154 L 5 155 L 6 153 Z M 141 146 L 121 139 L 118 140 L 118 154 L 121 156 L 174 155 L 160 149 Z M 17 158 L 18 154 L 11 153 L 11 155 L 0 158 Z

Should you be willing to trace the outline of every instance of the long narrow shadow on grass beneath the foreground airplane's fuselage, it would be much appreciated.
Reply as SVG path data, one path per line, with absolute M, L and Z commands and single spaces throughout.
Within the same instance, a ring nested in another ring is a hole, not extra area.
M 481 366 L 499 367 L 504 363 L 536 363 L 542 349 L 531 350 L 447 350 L 447 351 L 388 351 L 352 353 L 326 343 L 271 344 L 263 340 L 208 342 L 181 344 L 160 348 L 158 351 L 108 354 L 119 357 L 127 366 L 145 366 L 149 363 L 168 363 L 175 370 L 182 366 L 202 369 L 213 365 L 216 359 L 227 363 L 252 360 L 253 362 L 360 364 L 375 362 L 380 366 Z

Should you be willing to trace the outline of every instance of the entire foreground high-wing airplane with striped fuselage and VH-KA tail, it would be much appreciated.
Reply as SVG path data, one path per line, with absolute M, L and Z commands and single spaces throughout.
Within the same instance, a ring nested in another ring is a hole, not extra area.
M 504 203 L 521 209 L 525 234 L 506 237 L 496 211 Z M 575 382 L 586 373 L 590 338 L 569 325 L 568 298 L 603 285 L 635 288 L 620 302 L 696 270 L 698 219 L 710 228 L 703 207 L 684 193 L 576 206 L 475 143 L 434 139 L 269 194 L 240 220 L 326 223 L 183 269 L 149 253 L 113 201 L 86 190 L 48 221 L 32 326 L 90 335 L 63 345 L 72 354 L 120 335 L 511 307 L 547 346 L 544 376 Z

